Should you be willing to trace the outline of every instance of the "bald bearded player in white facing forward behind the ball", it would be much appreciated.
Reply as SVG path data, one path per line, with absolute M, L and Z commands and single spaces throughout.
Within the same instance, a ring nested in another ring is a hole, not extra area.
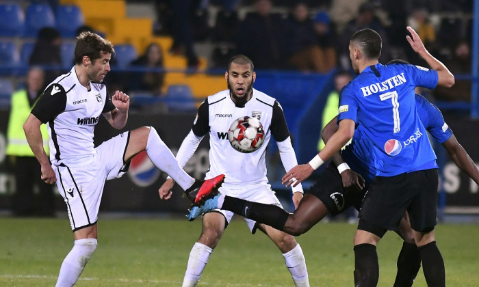
M 225 174 L 220 192 L 263 204 L 281 206 L 266 178 L 266 147 L 271 136 L 278 143 L 281 161 L 286 170 L 297 163 L 283 109 L 274 98 L 253 89 L 256 79 L 253 62 L 244 55 L 231 58 L 224 77 L 228 90 L 209 96 L 198 109 L 192 131 L 186 136 L 177 154 L 177 160 L 184 166 L 194 154 L 203 137 L 209 133 L 210 168 L 207 178 Z M 244 154 L 234 150 L 227 137 L 231 123 L 242 116 L 256 117 L 265 131 L 264 143 L 255 152 Z M 168 200 L 174 184 L 172 179 L 159 189 L 161 199 Z M 293 188 L 293 202 L 297 207 L 302 198 L 302 187 Z M 203 216 L 203 232 L 194 244 L 188 260 L 183 287 L 196 286 L 209 256 L 218 245 L 224 229 L 233 213 L 227 210 L 211 210 Z M 259 228 L 266 233 L 281 250 L 286 266 L 296 286 L 309 286 L 305 256 L 294 236 L 245 219 L 254 234 Z

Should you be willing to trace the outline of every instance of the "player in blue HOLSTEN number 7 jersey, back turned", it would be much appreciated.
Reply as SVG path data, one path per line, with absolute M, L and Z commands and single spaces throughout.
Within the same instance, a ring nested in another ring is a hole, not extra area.
M 411 217 L 426 282 L 430 286 L 445 285 L 444 263 L 434 237 L 437 164 L 416 112 L 414 88 L 450 87 L 454 76 L 428 53 L 417 33 L 410 27 L 408 30 L 411 37 L 406 39 L 432 70 L 411 65 L 383 66 L 378 63 L 381 51 L 378 33 L 371 29 L 355 33 L 349 49 L 352 66 L 359 76 L 341 91 L 339 129 L 314 159 L 294 167 L 283 177 L 287 186 L 302 182 L 353 135 L 355 143 L 366 151 L 359 154 L 359 159 L 367 156 L 373 159 L 376 177 L 365 197 L 354 237 L 357 286 L 376 286 L 379 275 L 376 244 L 387 230 L 396 230 L 406 210 Z M 222 202 L 219 197 L 217 203 L 221 208 L 226 208 L 226 198 Z M 305 196 L 292 216 L 307 218 L 303 213 L 318 212 Z M 248 208 L 248 216 L 255 216 L 252 213 Z M 284 226 L 288 218 L 288 215 L 276 217 L 271 225 Z M 315 218 L 315 222 L 298 223 L 298 228 L 309 230 L 320 220 L 318 214 Z

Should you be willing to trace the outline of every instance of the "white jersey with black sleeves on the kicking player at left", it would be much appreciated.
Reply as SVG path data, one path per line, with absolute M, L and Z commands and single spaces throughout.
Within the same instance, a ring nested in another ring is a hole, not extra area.
M 115 109 L 104 83 L 90 82 L 90 90 L 78 80 L 75 66 L 57 77 L 31 111 L 47 124 L 50 161 L 54 165 L 88 165 L 94 154 L 94 126 L 101 113 Z

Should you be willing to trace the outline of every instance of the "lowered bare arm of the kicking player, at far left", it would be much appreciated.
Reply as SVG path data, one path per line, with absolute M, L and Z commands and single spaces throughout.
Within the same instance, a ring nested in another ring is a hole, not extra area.
M 27 121 L 23 124 L 23 131 L 25 131 L 25 136 L 27 137 L 31 151 L 34 152 L 36 159 L 40 163 L 42 180 L 48 184 L 53 184 L 57 181 L 57 178 L 53 168 L 51 168 L 47 153 L 43 148 L 42 132 L 40 131 L 41 124 L 42 122 L 30 113 Z

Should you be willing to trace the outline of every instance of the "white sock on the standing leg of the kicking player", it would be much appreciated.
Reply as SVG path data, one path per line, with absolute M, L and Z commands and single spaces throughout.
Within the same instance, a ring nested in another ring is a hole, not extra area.
M 81 271 L 96 249 L 96 239 L 75 240 L 75 245 L 65 257 L 60 268 L 56 287 L 71 287 L 77 283 Z

